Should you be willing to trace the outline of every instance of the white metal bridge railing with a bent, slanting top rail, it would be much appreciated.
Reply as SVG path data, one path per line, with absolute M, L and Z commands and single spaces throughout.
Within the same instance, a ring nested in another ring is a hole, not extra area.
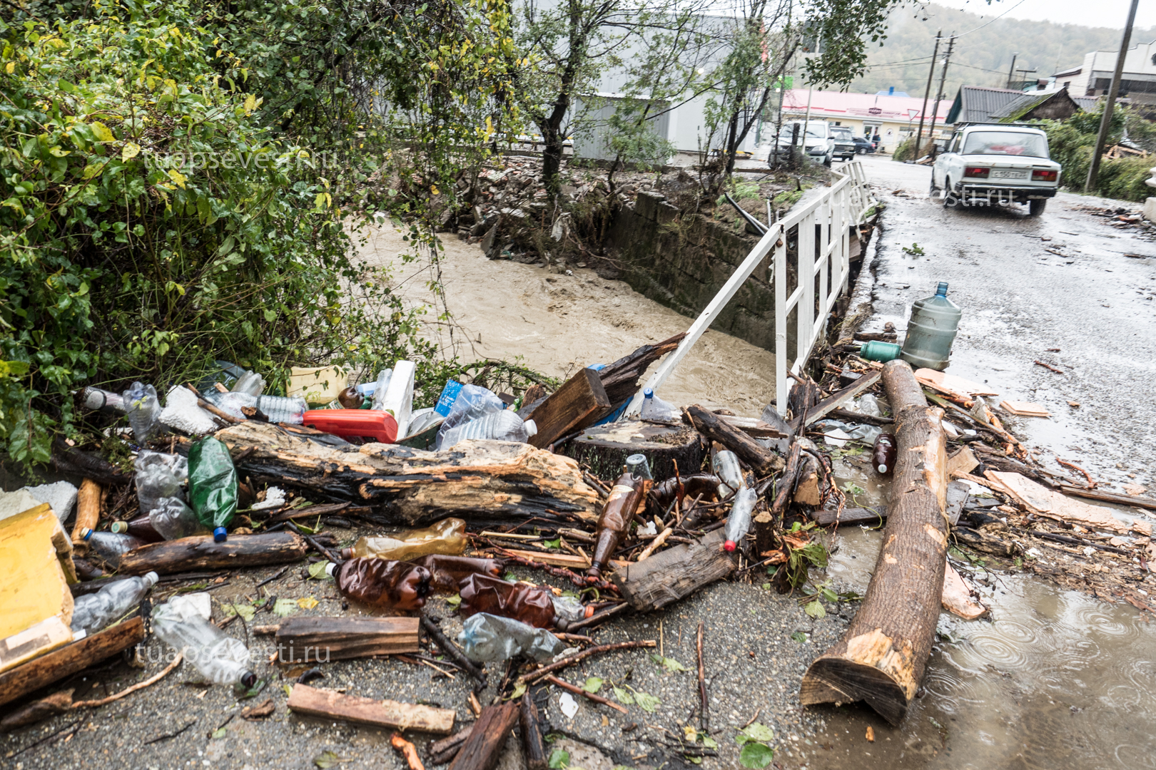
M 798 374 L 807 362 L 815 343 L 827 332 L 828 316 L 847 287 L 851 226 L 861 224 L 867 211 L 876 204 L 867 187 L 862 165 L 858 160 L 847 163 L 837 173 L 842 179 L 771 225 L 714 299 L 690 324 L 679 347 L 662 359 L 658 369 L 646 381 L 644 390 L 645 388 L 657 390 L 666 382 L 739 287 L 770 255 L 775 260 L 775 394 L 779 412 L 786 411 L 790 391 L 787 371 Z M 787 294 L 791 283 L 788 262 L 792 252 L 788 242 L 792 237 L 795 240 L 793 249 L 796 262 L 795 281 L 794 289 Z M 787 331 L 792 313 L 795 314 L 795 345 L 794 356 L 788 356 Z M 623 416 L 637 414 L 642 401 L 643 394 L 639 391 Z

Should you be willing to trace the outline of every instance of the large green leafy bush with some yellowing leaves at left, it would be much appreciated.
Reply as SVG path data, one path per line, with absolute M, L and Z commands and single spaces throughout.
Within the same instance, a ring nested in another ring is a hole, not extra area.
M 44 462 L 75 434 L 83 384 L 163 393 L 218 358 L 276 384 L 290 365 L 406 356 L 439 386 L 386 276 L 350 260 L 326 170 L 258 122 L 245 62 L 180 0 L 87 14 L 0 20 L 9 456 Z

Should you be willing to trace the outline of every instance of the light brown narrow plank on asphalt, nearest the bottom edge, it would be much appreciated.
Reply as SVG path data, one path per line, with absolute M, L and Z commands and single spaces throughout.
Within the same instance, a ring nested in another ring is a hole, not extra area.
M 343 695 L 336 690 L 294 685 L 289 694 L 289 708 L 297 713 L 323 719 L 341 719 L 358 725 L 390 727 L 393 730 L 417 730 L 425 733 L 449 735 L 453 732 L 457 712 L 431 705 L 415 705 L 398 701 L 378 701 L 360 695 Z

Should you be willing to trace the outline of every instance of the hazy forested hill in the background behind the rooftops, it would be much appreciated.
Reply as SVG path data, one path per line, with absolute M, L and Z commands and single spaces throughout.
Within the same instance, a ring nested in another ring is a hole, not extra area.
M 922 97 L 927 85 L 927 72 L 935 32 L 943 31 L 944 38 L 973 30 L 1002 13 L 1014 0 L 993 2 L 984 16 L 943 6 L 927 5 L 924 9 L 902 8 L 891 15 L 888 37 L 882 47 L 870 48 L 870 69 L 865 77 L 854 81 L 849 91 L 874 94 L 894 85 L 896 91 Z M 1089 3 L 1089 10 L 1094 3 Z M 1095 14 L 1089 14 L 1095 15 Z M 996 18 L 987 27 L 956 42 L 951 63 L 947 72 L 944 92 L 954 98 L 959 85 L 995 85 L 1003 88 L 1011 66 L 1011 52 L 1018 51 L 1016 67 L 1035 67 L 1036 74 L 1016 77 L 1032 80 L 1048 77 L 1062 69 L 1079 67 L 1089 51 L 1116 51 L 1120 45 L 1121 30 L 1106 27 L 1081 27 L 1077 24 L 1054 24 L 1052 22 Z M 1133 44 L 1156 39 L 1156 28 L 1135 29 Z M 940 46 L 940 61 L 946 40 Z M 936 67 L 932 95 L 939 85 L 940 70 Z

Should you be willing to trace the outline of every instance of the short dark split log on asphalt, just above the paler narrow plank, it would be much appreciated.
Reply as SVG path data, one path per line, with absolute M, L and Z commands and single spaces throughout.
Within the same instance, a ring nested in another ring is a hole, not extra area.
M 287 618 L 277 627 L 281 663 L 328 663 L 417 652 L 417 618 Z

